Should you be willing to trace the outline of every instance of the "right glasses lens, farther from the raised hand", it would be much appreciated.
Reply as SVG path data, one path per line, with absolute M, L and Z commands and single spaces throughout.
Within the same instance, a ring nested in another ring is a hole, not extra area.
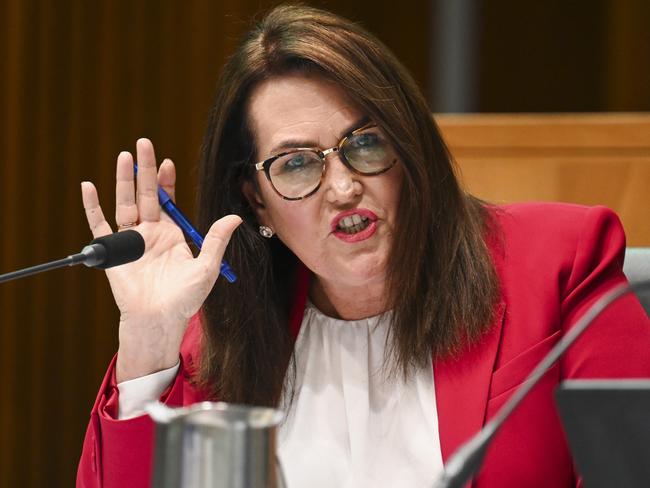
M 377 127 L 352 134 L 341 151 L 352 167 L 364 174 L 385 171 L 395 160 L 388 141 Z

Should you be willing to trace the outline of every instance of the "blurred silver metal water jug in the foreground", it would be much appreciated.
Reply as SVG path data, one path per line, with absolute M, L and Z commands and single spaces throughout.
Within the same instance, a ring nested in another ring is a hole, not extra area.
M 285 488 L 280 410 L 228 403 L 146 407 L 156 423 L 154 488 Z

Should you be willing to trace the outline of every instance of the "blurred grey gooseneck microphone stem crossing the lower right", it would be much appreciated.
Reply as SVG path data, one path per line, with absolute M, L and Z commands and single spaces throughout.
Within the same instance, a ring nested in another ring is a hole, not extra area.
M 580 337 L 589 325 L 613 302 L 630 292 L 650 289 L 650 280 L 634 284 L 624 283 L 605 293 L 587 309 L 571 329 L 544 356 L 521 386 L 513 393 L 492 419 L 471 439 L 460 446 L 444 466 L 442 475 L 434 488 L 462 488 L 479 471 L 492 438 L 510 414 L 517 408 L 546 371 L 560 359 L 562 354 Z

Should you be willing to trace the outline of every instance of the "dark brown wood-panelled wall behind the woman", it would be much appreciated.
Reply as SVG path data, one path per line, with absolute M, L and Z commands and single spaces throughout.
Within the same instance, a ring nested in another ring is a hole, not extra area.
M 273 3 L 0 0 L 0 271 L 79 250 L 90 239 L 79 183 L 97 184 L 110 215 L 115 156 L 141 136 L 177 163 L 191 215 L 214 80 Z M 310 3 L 363 21 L 430 86 L 436 1 Z M 649 2 L 480 3 L 477 111 L 650 110 Z M 98 271 L 0 287 L 0 486 L 74 483 L 116 325 Z

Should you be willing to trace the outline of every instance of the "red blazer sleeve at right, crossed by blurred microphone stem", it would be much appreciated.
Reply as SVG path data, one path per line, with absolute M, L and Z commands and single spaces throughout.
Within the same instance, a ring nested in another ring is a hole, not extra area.
M 583 221 L 561 304 L 564 327 L 575 324 L 604 293 L 625 283 L 625 235 L 614 212 L 593 207 Z M 569 348 L 564 378 L 650 377 L 650 319 L 629 293 L 610 305 Z

